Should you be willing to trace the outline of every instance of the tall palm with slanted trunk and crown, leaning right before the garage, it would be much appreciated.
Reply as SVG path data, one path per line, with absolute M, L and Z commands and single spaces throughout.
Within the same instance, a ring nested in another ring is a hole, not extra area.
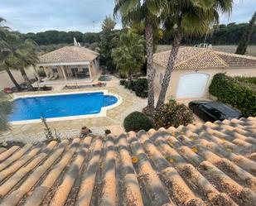
M 175 38 L 172 42 L 167 70 L 162 79 L 157 108 L 165 102 L 182 38 L 205 33 L 210 26 L 219 22 L 219 12 L 230 13 L 233 6 L 233 0 L 168 0 L 168 2 L 170 13 L 167 17 L 163 16 L 163 24 L 167 30 L 175 33 Z

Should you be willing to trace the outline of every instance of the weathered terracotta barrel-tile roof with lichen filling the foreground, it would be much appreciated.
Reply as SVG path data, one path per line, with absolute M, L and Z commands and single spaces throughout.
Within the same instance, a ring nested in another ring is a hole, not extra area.
M 256 118 L 0 154 L 1 205 L 256 205 Z

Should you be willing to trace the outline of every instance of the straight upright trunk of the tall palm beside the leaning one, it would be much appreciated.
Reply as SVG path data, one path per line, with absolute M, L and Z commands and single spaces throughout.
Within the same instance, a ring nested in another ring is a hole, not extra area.
M 155 70 L 153 67 L 153 30 L 149 19 L 146 21 L 145 28 L 146 36 L 146 50 L 147 50 L 147 115 L 152 116 L 155 110 L 155 97 L 154 97 L 154 79 Z

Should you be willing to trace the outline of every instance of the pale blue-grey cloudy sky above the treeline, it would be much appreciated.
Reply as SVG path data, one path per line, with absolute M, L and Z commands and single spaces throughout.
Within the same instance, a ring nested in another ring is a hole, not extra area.
M 113 16 L 113 8 L 114 0 L 0 0 L 0 17 L 12 30 L 23 33 L 94 32 L 101 30 L 106 16 Z M 234 0 L 231 17 L 221 15 L 220 23 L 249 22 L 255 11 L 256 0 Z

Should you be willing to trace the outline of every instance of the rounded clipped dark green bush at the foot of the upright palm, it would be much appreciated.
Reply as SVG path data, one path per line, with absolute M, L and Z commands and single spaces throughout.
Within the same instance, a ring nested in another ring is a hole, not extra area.
M 140 130 L 148 131 L 149 129 L 153 128 L 154 125 L 145 114 L 134 112 L 125 117 L 123 127 L 125 128 L 126 132 L 138 132 Z

